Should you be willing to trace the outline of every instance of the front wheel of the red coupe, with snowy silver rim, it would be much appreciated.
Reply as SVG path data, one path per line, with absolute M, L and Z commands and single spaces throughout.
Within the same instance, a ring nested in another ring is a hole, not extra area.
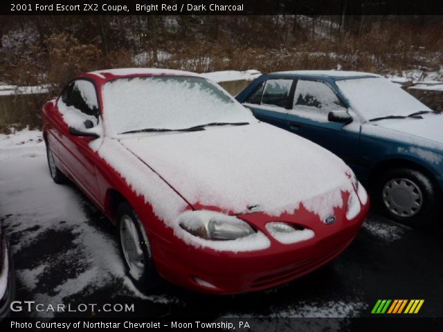
M 156 273 L 150 241 L 144 236 L 140 219 L 128 203 L 121 203 L 116 214 L 120 254 L 128 277 L 143 293 L 152 293 L 161 285 Z

